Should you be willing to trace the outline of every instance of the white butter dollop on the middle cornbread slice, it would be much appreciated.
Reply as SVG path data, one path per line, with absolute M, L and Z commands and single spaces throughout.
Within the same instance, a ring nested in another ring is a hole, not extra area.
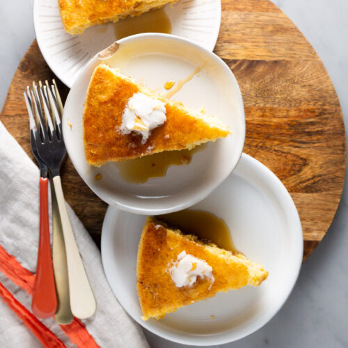
M 163 125 L 166 120 L 164 102 L 140 92 L 134 93 L 123 111 L 120 132 L 139 132 L 143 136 L 141 143 L 144 144 L 148 141 L 152 129 Z

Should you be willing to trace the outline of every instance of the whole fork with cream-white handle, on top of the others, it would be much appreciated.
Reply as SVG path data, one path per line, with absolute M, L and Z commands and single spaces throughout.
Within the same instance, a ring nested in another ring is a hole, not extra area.
M 41 98 L 39 97 L 39 90 Z M 86 319 L 95 313 L 96 303 L 79 254 L 77 242 L 74 238 L 61 186 L 60 169 L 66 150 L 63 141 L 61 118 L 58 113 L 57 93 L 54 85 L 49 88 L 48 83 L 44 86 L 40 84 L 39 88 L 36 85 L 33 86 L 33 90 L 27 88 L 27 92 L 24 92 L 24 98 L 27 106 L 29 106 L 31 136 L 35 141 L 40 159 L 49 168 L 54 184 L 54 192 L 56 193 L 65 242 L 71 311 L 75 317 Z M 33 108 L 33 105 L 35 105 L 35 108 Z M 35 111 L 38 113 L 40 132 L 34 120 Z M 43 116 L 44 113 L 47 124 Z

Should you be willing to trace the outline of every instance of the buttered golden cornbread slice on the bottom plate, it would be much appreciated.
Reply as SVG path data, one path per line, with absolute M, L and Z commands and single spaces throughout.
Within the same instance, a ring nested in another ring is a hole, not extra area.
M 177 287 L 169 271 L 177 255 L 187 254 L 205 260 L 212 267 L 214 281 L 198 277 L 191 286 Z M 182 235 L 166 224 L 148 217 L 143 228 L 136 267 L 137 290 L 143 320 L 160 319 L 177 308 L 215 296 L 217 292 L 259 286 L 268 276 L 260 264 L 241 253 L 204 244 L 193 235 Z

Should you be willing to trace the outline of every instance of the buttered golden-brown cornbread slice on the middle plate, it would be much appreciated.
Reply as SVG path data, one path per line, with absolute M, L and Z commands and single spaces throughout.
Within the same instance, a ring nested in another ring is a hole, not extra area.
M 166 107 L 166 122 L 152 129 L 145 143 L 137 132 L 120 132 L 127 101 L 138 92 L 161 100 Z M 229 127 L 218 118 L 165 100 L 104 63 L 95 68 L 90 79 L 84 109 L 84 150 L 88 164 L 93 166 L 165 150 L 191 149 L 229 134 Z

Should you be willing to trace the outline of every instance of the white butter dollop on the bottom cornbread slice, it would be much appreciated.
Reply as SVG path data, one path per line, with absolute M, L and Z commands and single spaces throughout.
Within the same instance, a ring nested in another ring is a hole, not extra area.
M 210 287 L 212 287 L 214 283 L 212 271 L 212 267 L 205 260 L 187 254 L 186 251 L 177 255 L 177 261 L 169 269 L 176 287 L 192 286 L 196 283 L 198 276 L 209 278 L 212 282 Z

